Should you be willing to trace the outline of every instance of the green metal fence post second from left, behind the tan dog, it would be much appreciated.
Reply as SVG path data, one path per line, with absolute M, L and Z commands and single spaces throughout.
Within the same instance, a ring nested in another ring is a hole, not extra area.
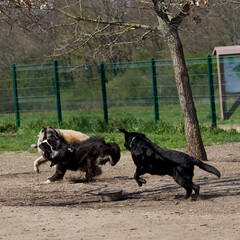
M 55 81 L 55 94 L 57 103 L 57 116 L 58 116 L 58 126 L 61 128 L 62 122 L 62 110 L 61 110 L 61 98 L 60 98 L 60 84 L 59 84 L 59 73 L 58 73 L 58 61 L 53 61 L 54 66 L 54 81 Z

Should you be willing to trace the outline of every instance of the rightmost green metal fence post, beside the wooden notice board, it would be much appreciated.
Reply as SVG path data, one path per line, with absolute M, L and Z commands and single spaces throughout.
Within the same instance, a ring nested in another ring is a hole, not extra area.
M 209 83 L 209 96 L 210 96 L 210 107 L 211 107 L 211 120 L 212 120 L 212 127 L 216 127 L 217 121 L 216 121 L 216 108 L 215 108 L 212 56 L 211 55 L 207 56 L 207 64 L 208 64 L 208 83 Z

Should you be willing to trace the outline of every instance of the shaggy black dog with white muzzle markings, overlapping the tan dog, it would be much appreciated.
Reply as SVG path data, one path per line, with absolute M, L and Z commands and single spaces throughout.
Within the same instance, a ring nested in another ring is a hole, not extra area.
M 57 133 L 55 133 L 57 134 Z M 78 144 L 67 144 L 61 136 L 44 140 L 39 148 L 44 157 L 56 165 L 55 174 L 47 182 L 61 180 L 67 170 L 86 172 L 86 180 L 102 173 L 99 165 L 108 161 L 112 166 L 120 159 L 120 148 L 116 143 L 106 143 L 102 137 L 90 137 Z

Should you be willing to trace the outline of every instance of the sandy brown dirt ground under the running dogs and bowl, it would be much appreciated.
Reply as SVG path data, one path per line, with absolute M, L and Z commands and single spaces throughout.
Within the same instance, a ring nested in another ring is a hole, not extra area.
M 206 150 L 222 177 L 196 167 L 198 201 L 182 200 L 185 190 L 168 176 L 145 175 L 138 187 L 128 152 L 92 183 L 69 171 L 51 184 L 49 163 L 33 171 L 37 153 L 1 153 L 0 239 L 240 239 L 240 142 Z M 123 200 L 99 201 L 98 192 L 117 189 Z

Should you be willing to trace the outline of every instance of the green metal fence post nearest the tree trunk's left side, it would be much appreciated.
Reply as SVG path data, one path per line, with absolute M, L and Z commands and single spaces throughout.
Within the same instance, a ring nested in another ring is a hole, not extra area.
M 152 69 L 154 116 L 155 116 L 155 122 L 157 123 L 159 120 L 159 109 L 158 109 L 157 74 L 156 74 L 155 58 L 151 59 L 151 69 Z

